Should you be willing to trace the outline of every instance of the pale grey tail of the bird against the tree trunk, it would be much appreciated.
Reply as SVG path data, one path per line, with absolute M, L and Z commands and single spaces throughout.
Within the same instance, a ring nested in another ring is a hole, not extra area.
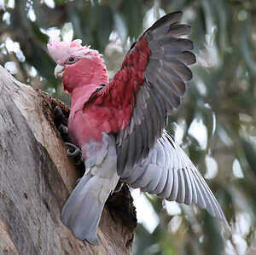
M 105 201 L 97 199 L 101 193 L 99 177 L 87 173 L 82 177 L 61 210 L 61 221 L 79 240 L 98 245 L 97 229 Z M 96 186 L 99 185 L 99 189 Z M 108 199 L 106 194 L 106 200 Z

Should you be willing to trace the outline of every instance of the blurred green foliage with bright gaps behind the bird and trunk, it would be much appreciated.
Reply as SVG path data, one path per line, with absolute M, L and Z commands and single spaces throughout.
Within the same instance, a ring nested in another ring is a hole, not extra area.
M 47 53 L 49 36 L 104 54 L 110 77 L 145 28 L 183 10 L 192 26 L 194 79 L 168 129 L 198 165 L 231 225 L 195 206 L 133 192 L 134 254 L 256 253 L 256 1 L 0 0 L 0 63 L 21 82 L 69 103 Z

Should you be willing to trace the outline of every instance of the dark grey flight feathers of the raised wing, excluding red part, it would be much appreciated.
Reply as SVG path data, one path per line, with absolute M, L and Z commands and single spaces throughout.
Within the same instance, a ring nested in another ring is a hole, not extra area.
M 188 65 L 195 63 L 195 55 L 189 51 L 193 43 L 180 38 L 191 28 L 177 24 L 181 18 L 181 12 L 166 14 L 138 40 L 147 40 L 150 55 L 130 124 L 117 134 L 119 175 L 148 156 L 166 126 L 167 116 L 179 107 L 186 82 L 192 78 Z M 129 53 L 132 50 L 139 50 L 137 43 Z

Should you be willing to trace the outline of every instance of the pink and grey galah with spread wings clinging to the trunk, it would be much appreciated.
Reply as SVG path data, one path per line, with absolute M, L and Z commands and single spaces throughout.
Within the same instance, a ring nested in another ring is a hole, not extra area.
M 62 222 L 80 240 L 98 244 L 103 206 L 117 183 L 187 205 L 197 204 L 224 219 L 199 171 L 165 130 L 181 103 L 195 63 L 193 43 L 180 38 L 181 12 L 166 14 L 131 46 L 112 81 L 102 55 L 51 39 L 49 54 L 71 95 L 68 136 L 81 148 L 85 173 L 61 211 Z

